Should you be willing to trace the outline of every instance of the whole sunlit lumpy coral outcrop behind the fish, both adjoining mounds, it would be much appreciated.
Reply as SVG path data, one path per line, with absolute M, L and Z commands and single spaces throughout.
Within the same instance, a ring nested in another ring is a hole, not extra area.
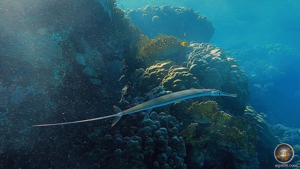
M 176 92 L 190 88 L 215 88 L 235 93 L 237 98 L 215 98 L 224 109 L 243 116 L 250 91 L 248 77 L 236 60 L 226 57 L 221 48 L 207 43 L 190 45 L 187 61 L 165 60 L 132 75 L 133 93 L 146 93 L 158 85 Z M 203 100 L 202 100 L 203 101 Z

